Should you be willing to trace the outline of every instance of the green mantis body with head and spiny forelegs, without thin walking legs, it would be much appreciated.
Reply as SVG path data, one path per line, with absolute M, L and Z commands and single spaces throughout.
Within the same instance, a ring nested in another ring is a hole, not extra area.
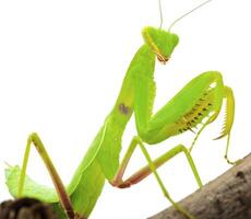
M 229 93 L 226 92 L 228 88 L 224 87 L 220 73 L 205 72 L 189 82 L 153 115 L 156 90 L 155 59 L 157 57 L 162 62 L 166 62 L 178 44 L 178 36 L 153 27 L 144 28 L 143 36 L 145 44 L 140 47 L 130 64 L 113 108 L 67 187 L 73 208 L 79 215 L 89 216 L 105 180 L 111 182 L 116 176 L 119 169 L 121 138 L 133 113 L 140 138 L 146 143 L 154 145 L 195 127 L 210 113 L 213 113 L 213 116 L 208 123 L 213 122 L 218 115 L 223 99 Z M 213 83 L 216 85 L 211 89 Z M 227 115 L 234 115 L 232 105 L 228 107 Z M 229 134 L 231 124 L 232 118 L 226 120 L 225 132 L 220 137 Z M 19 168 L 7 170 L 7 184 L 15 197 L 19 175 Z M 25 178 L 23 195 L 55 203 L 56 208 L 60 209 L 55 189 L 40 186 L 28 176 Z

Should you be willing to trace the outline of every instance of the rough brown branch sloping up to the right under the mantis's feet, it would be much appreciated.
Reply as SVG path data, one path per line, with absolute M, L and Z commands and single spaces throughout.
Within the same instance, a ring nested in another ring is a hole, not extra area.
M 179 205 L 196 219 L 251 218 L 251 154 Z M 184 219 L 174 207 L 150 219 Z

